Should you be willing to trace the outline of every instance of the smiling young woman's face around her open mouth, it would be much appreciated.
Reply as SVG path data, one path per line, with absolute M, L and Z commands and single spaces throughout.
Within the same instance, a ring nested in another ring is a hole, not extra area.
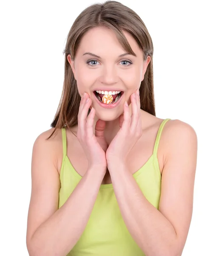
M 96 110 L 96 116 L 105 121 L 117 119 L 123 113 L 125 101 L 131 104 L 130 96 L 144 79 L 145 71 L 151 58 L 143 61 L 142 50 L 134 38 L 124 31 L 134 55 L 119 57 L 125 52 L 111 29 L 97 27 L 89 30 L 82 38 L 77 49 L 75 61 L 68 61 L 77 81 L 80 96 L 88 93 L 92 100 L 91 107 Z M 87 54 L 88 52 L 88 54 Z M 99 57 L 90 55 L 92 53 Z M 115 108 L 103 108 L 95 96 L 95 90 L 123 91 L 119 104 Z M 91 108 L 90 107 L 90 108 Z

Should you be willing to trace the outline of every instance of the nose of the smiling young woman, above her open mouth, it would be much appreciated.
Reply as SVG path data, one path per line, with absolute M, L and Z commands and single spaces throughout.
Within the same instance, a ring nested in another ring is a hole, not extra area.
M 119 81 L 117 76 L 117 70 L 113 65 L 104 66 L 101 70 L 101 76 L 99 81 L 102 84 L 115 84 Z

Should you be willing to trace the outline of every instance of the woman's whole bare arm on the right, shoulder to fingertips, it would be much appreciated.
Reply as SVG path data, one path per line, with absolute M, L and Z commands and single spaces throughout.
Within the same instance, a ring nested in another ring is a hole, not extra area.
M 165 151 L 159 209 L 156 209 L 142 194 L 125 164 L 142 136 L 138 90 L 131 95 L 131 105 L 132 115 L 124 104 L 123 116 L 119 116 L 120 129 L 106 150 L 119 209 L 131 236 L 146 255 L 181 256 L 193 212 L 197 136 L 193 128 L 179 120 L 164 129 L 170 140 Z

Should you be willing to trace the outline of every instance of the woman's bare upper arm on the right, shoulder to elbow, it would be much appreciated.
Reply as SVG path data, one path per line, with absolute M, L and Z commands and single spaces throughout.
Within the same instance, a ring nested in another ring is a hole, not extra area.
M 193 212 L 197 136 L 190 125 L 179 120 L 168 122 L 164 130 L 167 141 L 159 211 L 176 231 L 177 250 L 181 255 Z

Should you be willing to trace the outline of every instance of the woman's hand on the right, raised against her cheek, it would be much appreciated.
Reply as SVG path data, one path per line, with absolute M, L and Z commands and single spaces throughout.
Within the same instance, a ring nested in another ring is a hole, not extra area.
M 135 97 L 134 97 L 135 96 Z M 106 150 L 108 165 L 114 165 L 125 160 L 136 142 L 142 136 L 139 89 L 131 94 L 132 115 L 124 103 L 124 113 L 119 116 L 119 131 Z

